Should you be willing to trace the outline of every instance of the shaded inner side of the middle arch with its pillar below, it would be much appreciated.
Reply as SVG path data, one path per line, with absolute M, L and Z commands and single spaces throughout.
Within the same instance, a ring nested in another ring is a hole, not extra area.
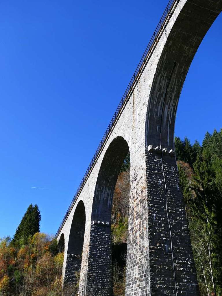
M 92 213 L 89 243 L 87 287 L 94 295 L 113 295 L 111 210 L 117 178 L 129 147 L 123 137 L 109 145 L 98 173 Z

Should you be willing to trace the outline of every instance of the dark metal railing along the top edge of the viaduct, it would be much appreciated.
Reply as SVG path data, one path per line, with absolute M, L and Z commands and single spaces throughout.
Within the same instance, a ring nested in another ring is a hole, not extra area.
M 145 50 L 145 52 L 144 52 L 144 54 L 143 54 L 143 56 L 142 56 L 142 58 L 141 58 L 141 60 L 140 60 L 140 62 L 138 64 L 134 74 L 133 74 L 133 77 L 131 78 L 131 80 L 130 80 L 127 88 L 126 88 L 126 91 L 125 91 L 125 93 L 124 93 L 124 95 L 123 95 L 123 97 L 122 97 L 122 99 L 121 99 L 121 101 L 120 101 L 120 103 L 119 103 L 119 105 L 118 105 L 118 107 L 117 107 L 111 121 L 110 121 L 110 124 L 108 125 L 107 130 L 105 131 L 104 136 L 102 137 L 102 140 L 99 143 L 99 147 L 97 148 L 96 153 L 94 154 L 94 156 L 93 156 L 93 158 L 91 160 L 91 163 L 89 164 L 89 167 L 86 170 L 86 173 L 85 173 L 85 175 L 84 175 L 84 177 L 83 177 L 83 179 L 82 179 L 82 181 L 81 181 L 81 183 L 80 183 L 80 185 L 79 185 L 79 187 L 78 187 L 78 189 L 77 189 L 77 191 L 76 191 L 76 193 L 75 193 L 75 195 L 73 197 L 73 200 L 72 200 L 67 212 L 65 213 L 65 216 L 64 216 L 64 218 L 62 220 L 62 223 L 60 224 L 59 229 L 58 229 L 58 231 L 56 233 L 56 237 L 58 237 L 59 232 L 60 232 L 63 224 L 65 223 L 71 209 L 73 208 L 75 200 L 78 197 L 78 194 L 80 193 L 81 189 L 83 188 L 83 184 L 85 183 L 86 179 L 89 176 L 89 172 L 91 171 L 91 169 L 95 165 L 97 157 L 98 157 L 98 155 L 100 154 L 100 152 L 101 152 L 101 150 L 103 148 L 104 142 L 106 141 L 110 130 L 112 129 L 112 127 L 114 126 L 114 123 L 118 119 L 118 115 L 120 115 L 120 113 L 122 111 L 122 108 L 125 106 L 125 103 L 128 101 L 127 100 L 128 95 L 131 93 L 131 90 L 132 90 L 133 86 L 135 85 L 135 82 L 137 81 L 137 78 L 138 78 L 139 74 L 141 73 L 141 69 L 145 65 L 145 63 L 147 61 L 147 58 L 152 54 L 152 50 L 154 49 L 155 44 L 158 42 L 158 37 L 160 36 L 160 33 L 164 29 L 165 22 L 166 22 L 166 20 L 168 20 L 168 17 L 170 17 L 171 11 L 175 7 L 174 4 L 178 3 L 178 1 L 179 0 L 170 0 L 169 1 L 169 3 L 167 5 L 161 19 L 160 19 L 160 22 L 158 23 L 158 25 L 156 27 L 156 30 L 154 31 L 153 36 L 150 39 L 149 44 L 147 45 L 147 48 L 146 48 L 146 50 Z

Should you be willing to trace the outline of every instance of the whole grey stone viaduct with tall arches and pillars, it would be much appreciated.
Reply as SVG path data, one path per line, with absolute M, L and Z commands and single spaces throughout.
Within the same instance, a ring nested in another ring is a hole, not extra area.
M 199 295 L 174 155 L 178 99 L 222 0 L 170 0 L 56 234 L 64 284 L 113 295 L 111 207 L 130 153 L 126 295 Z

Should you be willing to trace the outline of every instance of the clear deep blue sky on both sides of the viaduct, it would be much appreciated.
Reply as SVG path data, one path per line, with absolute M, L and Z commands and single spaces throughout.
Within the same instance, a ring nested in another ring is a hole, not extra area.
M 57 231 L 167 2 L 1 1 L 0 237 L 30 203 Z M 221 29 L 181 94 L 175 134 L 192 142 L 222 127 Z

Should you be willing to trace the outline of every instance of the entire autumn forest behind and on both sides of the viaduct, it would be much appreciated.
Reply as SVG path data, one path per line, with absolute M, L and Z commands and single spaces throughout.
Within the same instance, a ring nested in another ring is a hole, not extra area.
M 175 138 L 180 186 L 201 296 L 222 295 L 222 129 L 202 144 Z M 113 197 L 112 270 L 114 295 L 125 293 L 130 156 L 121 168 Z M 64 253 L 57 240 L 40 232 L 41 214 L 30 205 L 13 238 L 0 239 L 0 295 L 77 295 L 78 283 L 64 287 Z M 78 276 L 78 275 L 76 275 Z

